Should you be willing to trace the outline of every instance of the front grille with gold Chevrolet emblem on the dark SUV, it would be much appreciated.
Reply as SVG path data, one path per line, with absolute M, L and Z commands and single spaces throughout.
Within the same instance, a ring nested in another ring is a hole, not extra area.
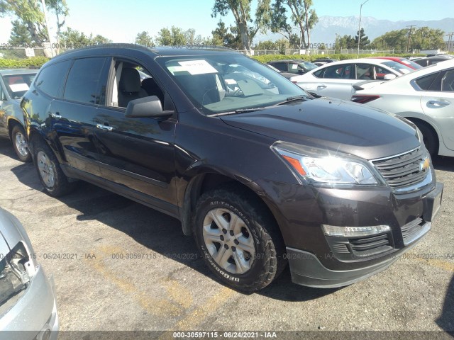
M 423 147 L 405 154 L 372 160 L 391 188 L 399 189 L 421 183 L 430 172 L 428 152 Z M 424 164 L 426 162 L 426 164 Z

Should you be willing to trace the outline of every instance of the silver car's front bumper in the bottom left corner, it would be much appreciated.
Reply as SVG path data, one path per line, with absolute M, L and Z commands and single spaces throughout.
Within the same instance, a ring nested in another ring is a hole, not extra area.
M 56 340 L 59 327 L 53 280 L 38 266 L 21 298 L 1 315 L 1 339 Z

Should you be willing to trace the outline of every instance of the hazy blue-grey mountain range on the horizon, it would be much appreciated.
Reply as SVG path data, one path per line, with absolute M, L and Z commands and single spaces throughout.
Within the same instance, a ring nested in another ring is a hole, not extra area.
M 319 22 L 311 30 L 311 43 L 333 44 L 338 35 L 352 35 L 353 37 L 358 32 L 359 16 L 321 16 Z M 369 37 L 370 41 L 380 35 L 389 32 L 390 30 L 402 30 L 407 26 L 428 27 L 444 30 L 445 33 L 454 31 L 454 18 L 444 18 L 436 21 L 389 21 L 379 20 L 371 16 L 361 17 L 361 27 L 364 28 L 364 33 Z M 294 30 L 296 32 L 297 30 Z M 258 35 L 255 40 L 277 40 L 282 38 L 282 35 L 266 34 Z M 448 40 L 448 37 L 445 37 Z

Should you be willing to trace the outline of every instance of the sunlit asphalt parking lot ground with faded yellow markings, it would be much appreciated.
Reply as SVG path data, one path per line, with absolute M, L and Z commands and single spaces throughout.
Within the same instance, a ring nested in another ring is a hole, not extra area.
M 94 339 L 89 331 L 172 339 L 162 331 L 191 330 L 436 331 L 453 339 L 454 158 L 434 163 L 445 190 L 431 232 L 387 271 L 341 289 L 294 285 L 284 271 L 259 293 L 237 293 L 214 280 L 178 220 L 87 183 L 51 198 L 7 140 L 0 206 L 23 223 L 55 278 L 62 339 L 67 331 L 86 331 L 85 340 Z

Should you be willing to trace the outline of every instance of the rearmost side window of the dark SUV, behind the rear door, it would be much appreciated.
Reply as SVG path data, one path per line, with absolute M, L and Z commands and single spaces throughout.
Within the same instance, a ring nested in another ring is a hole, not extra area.
M 38 79 L 35 80 L 35 87 L 49 96 L 59 96 L 70 66 L 71 60 L 66 60 L 45 67 L 38 75 Z

